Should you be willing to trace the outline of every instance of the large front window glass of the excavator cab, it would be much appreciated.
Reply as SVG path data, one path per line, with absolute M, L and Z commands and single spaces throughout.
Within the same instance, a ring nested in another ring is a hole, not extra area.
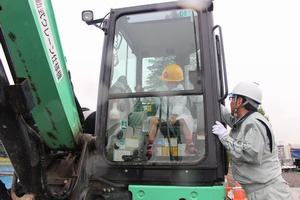
M 203 93 L 191 79 L 201 73 L 197 23 L 192 10 L 117 20 L 106 124 L 109 160 L 173 165 L 204 159 Z

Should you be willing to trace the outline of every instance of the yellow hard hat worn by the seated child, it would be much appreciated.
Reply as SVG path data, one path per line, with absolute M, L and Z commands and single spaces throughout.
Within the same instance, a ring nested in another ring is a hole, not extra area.
M 182 81 L 183 71 L 179 65 L 170 64 L 164 69 L 160 79 L 170 82 Z

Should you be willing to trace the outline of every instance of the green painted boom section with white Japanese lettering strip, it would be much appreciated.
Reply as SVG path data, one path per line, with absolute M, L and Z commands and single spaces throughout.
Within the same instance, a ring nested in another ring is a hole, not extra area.
M 80 120 L 49 0 L 2 0 L 0 23 L 19 77 L 30 81 L 32 113 L 50 149 L 74 149 Z

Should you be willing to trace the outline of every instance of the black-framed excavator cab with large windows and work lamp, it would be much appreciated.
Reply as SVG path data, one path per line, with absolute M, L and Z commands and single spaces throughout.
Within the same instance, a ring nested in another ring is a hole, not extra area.
M 213 25 L 212 2 L 205 2 L 202 10 L 170 2 L 113 9 L 108 18 L 98 20 L 91 18 L 91 11 L 83 17 L 105 33 L 95 128 L 99 157 L 94 172 L 111 182 L 126 182 L 133 197 L 141 190 L 154 193 L 157 188 L 170 194 L 172 189 L 166 188 L 178 185 L 199 186 L 197 192 L 202 194 L 207 191 L 201 191 L 201 186 L 214 186 L 224 197 L 226 152 L 211 127 L 219 120 L 219 105 L 227 96 L 225 62 L 221 28 Z M 182 88 L 161 89 L 164 69 L 174 64 L 182 70 L 182 80 L 176 81 Z M 123 89 L 116 90 L 115 85 Z M 184 99 L 188 110 L 186 122 L 192 127 L 196 153 L 185 151 L 182 124 L 169 123 L 177 97 Z M 149 158 L 153 117 L 159 123 L 155 151 Z

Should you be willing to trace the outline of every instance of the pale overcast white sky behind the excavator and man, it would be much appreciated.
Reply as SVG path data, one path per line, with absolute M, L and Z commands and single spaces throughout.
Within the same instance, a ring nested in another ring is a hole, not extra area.
M 82 106 L 96 108 L 103 32 L 82 22 L 81 12 L 91 9 L 95 18 L 101 18 L 110 8 L 153 2 L 165 1 L 52 0 Z M 285 145 L 300 144 L 299 8 L 299 0 L 214 1 L 214 21 L 223 30 L 229 90 L 242 80 L 259 83 L 276 141 Z

